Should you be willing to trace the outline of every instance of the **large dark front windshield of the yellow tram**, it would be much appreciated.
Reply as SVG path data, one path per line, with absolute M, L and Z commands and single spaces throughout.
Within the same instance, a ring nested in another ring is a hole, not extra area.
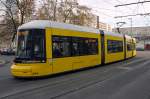
M 17 43 L 15 62 L 45 62 L 44 30 L 19 30 Z

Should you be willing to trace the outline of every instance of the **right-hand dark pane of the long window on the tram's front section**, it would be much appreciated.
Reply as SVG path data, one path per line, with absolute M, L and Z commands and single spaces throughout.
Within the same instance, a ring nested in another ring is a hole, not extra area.
M 72 37 L 73 56 L 94 55 L 98 53 L 98 40 L 95 38 Z

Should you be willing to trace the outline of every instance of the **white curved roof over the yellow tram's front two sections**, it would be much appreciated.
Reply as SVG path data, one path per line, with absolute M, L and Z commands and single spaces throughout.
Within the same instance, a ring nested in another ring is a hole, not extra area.
M 85 26 L 78 26 L 78 25 L 73 25 L 73 24 L 67 24 L 67 23 L 54 22 L 54 21 L 49 21 L 49 20 L 33 20 L 31 22 L 21 25 L 18 29 L 45 29 L 48 27 L 76 30 L 76 31 L 82 31 L 82 32 L 91 32 L 91 33 L 98 33 L 98 34 L 100 33 L 99 29 L 85 27 Z M 112 36 L 119 36 L 119 37 L 123 36 L 118 33 L 112 33 L 112 32 L 106 32 L 106 31 L 104 31 L 104 33 L 106 35 L 112 35 Z

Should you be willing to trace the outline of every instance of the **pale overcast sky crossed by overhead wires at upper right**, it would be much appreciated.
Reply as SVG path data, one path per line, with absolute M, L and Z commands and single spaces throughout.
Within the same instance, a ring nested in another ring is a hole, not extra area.
M 131 18 L 133 27 L 150 26 L 150 16 L 114 18 L 115 16 L 150 13 L 150 2 L 130 6 L 114 7 L 115 5 L 139 1 L 144 0 L 79 0 L 79 3 L 92 8 L 92 12 L 100 17 L 101 22 L 108 23 L 112 25 L 112 27 L 116 27 L 117 22 L 126 22 L 123 27 L 130 27 Z

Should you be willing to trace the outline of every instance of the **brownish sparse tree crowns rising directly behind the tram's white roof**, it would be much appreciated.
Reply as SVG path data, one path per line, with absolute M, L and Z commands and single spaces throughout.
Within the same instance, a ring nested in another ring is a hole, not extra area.
M 93 26 L 96 22 L 91 8 L 79 5 L 77 0 L 43 0 L 41 5 L 37 12 L 39 19 L 84 26 Z

